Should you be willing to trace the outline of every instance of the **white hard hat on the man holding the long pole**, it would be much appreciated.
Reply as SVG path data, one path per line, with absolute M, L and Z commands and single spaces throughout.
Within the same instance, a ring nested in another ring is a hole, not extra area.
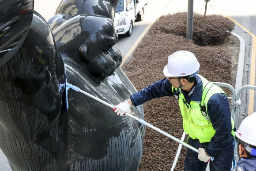
M 196 56 L 189 51 L 177 51 L 168 57 L 164 68 L 165 76 L 189 76 L 200 67 Z

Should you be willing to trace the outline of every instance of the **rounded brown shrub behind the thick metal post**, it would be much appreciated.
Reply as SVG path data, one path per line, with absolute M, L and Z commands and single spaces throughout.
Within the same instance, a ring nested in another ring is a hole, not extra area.
M 193 36 L 200 46 L 221 44 L 234 29 L 234 23 L 222 15 L 201 15 L 194 13 Z M 186 37 L 187 12 L 178 12 L 159 17 L 151 26 L 149 33 L 168 33 Z

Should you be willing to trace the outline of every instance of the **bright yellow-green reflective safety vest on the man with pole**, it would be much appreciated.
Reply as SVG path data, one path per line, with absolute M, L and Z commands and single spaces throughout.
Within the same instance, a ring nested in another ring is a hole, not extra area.
M 183 117 L 183 129 L 186 134 L 190 136 L 192 139 L 198 139 L 200 143 L 202 142 L 210 142 L 211 138 L 215 134 L 215 130 L 212 127 L 211 120 L 207 115 L 207 103 L 212 95 L 216 93 L 225 92 L 218 87 L 217 85 L 209 82 L 204 77 L 198 76 L 201 78 L 203 83 L 203 92 L 202 92 L 202 101 L 194 102 L 191 101 L 189 104 L 185 101 L 184 95 L 181 93 L 179 89 L 178 93 L 178 102 L 181 109 L 181 115 Z M 172 87 L 173 95 L 177 95 L 177 88 Z M 226 94 L 225 94 L 226 95 Z M 231 117 L 231 115 L 230 115 Z M 231 117 L 232 122 L 232 135 L 234 128 L 234 121 Z

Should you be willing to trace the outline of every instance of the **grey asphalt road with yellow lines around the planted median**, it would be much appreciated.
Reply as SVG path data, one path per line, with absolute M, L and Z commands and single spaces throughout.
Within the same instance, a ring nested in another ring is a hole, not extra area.
M 35 0 L 34 9 L 47 21 L 54 15 L 56 7 L 61 0 Z M 149 26 L 161 15 L 187 11 L 188 0 L 148 0 L 144 19 L 134 23 L 133 34 L 130 37 L 119 36 L 117 47 L 120 49 L 124 61 L 132 55 L 139 40 L 146 33 Z M 194 0 L 194 12 L 204 14 L 205 1 Z M 220 14 L 230 17 L 235 23 L 233 33 L 240 35 L 245 40 L 245 58 L 242 64 L 243 72 L 241 86 L 255 85 L 256 65 L 256 1 L 255 0 L 213 0 L 207 4 L 207 15 Z M 241 113 L 251 114 L 256 110 L 254 91 L 243 91 L 241 101 L 246 102 L 245 109 Z M 0 150 L 0 171 L 11 171 L 7 158 Z

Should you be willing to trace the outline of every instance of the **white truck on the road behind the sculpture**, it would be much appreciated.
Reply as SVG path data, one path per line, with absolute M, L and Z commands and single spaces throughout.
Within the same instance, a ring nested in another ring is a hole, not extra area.
M 119 0 L 115 15 L 117 34 L 132 35 L 135 20 L 142 21 L 147 0 Z

